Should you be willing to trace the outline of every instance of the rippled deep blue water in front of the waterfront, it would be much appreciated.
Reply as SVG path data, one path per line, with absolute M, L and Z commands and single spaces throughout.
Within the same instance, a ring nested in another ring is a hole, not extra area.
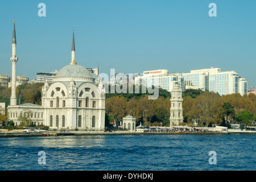
M 0 138 L 0 170 L 255 170 L 256 135 Z M 39 151 L 46 164 L 38 164 Z M 209 151 L 217 164 L 210 165 Z

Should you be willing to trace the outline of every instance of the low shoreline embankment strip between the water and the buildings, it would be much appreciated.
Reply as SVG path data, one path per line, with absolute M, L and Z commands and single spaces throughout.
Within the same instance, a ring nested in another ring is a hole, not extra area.
M 186 133 L 163 133 L 163 132 L 83 132 L 83 133 L 49 133 L 49 137 L 59 137 L 59 136 L 81 136 L 81 135 L 226 135 L 226 134 L 256 134 L 250 131 L 247 132 L 232 132 L 232 133 L 221 133 L 221 132 L 186 132 Z M 43 133 L 0 133 L 0 138 L 10 138 L 10 137 L 43 137 Z

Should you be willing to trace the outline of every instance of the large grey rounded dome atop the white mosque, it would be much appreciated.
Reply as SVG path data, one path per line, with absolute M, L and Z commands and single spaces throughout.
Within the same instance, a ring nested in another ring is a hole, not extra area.
M 70 64 L 60 69 L 60 71 L 56 74 L 56 78 L 60 77 L 73 77 L 73 78 L 93 78 L 90 72 L 77 64 Z

